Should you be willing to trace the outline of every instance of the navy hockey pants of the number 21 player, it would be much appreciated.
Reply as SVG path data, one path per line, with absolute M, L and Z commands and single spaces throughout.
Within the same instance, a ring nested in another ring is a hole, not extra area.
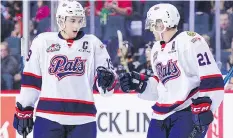
M 165 120 L 152 119 L 150 121 L 147 138 L 189 138 L 195 125 L 192 120 L 192 112 L 190 110 L 182 110 L 176 112 Z M 203 133 L 197 132 L 190 138 L 204 138 L 208 126 L 203 129 Z

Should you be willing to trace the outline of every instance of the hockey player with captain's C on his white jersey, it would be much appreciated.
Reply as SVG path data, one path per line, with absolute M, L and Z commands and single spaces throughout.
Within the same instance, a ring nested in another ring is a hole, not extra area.
M 79 2 L 61 1 L 56 13 L 60 31 L 33 40 L 14 116 L 19 134 L 27 135 L 34 124 L 34 138 L 96 138 L 93 85 L 109 96 L 116 81 L 102 42 L 79 31 L 86 26 L 84 13 Z

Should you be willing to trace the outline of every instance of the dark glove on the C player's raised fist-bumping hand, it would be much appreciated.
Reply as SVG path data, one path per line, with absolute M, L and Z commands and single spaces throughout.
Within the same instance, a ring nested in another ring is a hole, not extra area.
M 96 71 L 99 87 L 101 87 L 104 91 L 106 89 L 111 90 L 114 87 L 113 85 L 115 82 L 114 73 L 102 66 L 98 67 Z

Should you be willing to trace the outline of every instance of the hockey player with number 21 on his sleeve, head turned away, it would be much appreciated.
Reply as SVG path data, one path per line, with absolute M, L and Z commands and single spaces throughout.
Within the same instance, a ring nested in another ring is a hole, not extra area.
M 157 40 L 151 52 L 154 77 L 120 77 L 124 92 L 136 90 L 155 101 L 147 138 L 204 138 L 223 100 L 223 78 L 207 43 L 195 32 L 178 33 L 179 19 L 171 4 L 151 7 L 146 29 Z

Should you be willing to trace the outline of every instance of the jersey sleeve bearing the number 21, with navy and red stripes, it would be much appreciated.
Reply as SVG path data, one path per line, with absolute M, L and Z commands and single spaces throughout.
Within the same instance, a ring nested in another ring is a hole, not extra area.
M 210 97 L 215 111 L 224 96 L 224 82 L 215 59 L 204 38 L 197 35 L 185 47 L 184 60 L 190 74 L 200 79 L 199 97 Z

